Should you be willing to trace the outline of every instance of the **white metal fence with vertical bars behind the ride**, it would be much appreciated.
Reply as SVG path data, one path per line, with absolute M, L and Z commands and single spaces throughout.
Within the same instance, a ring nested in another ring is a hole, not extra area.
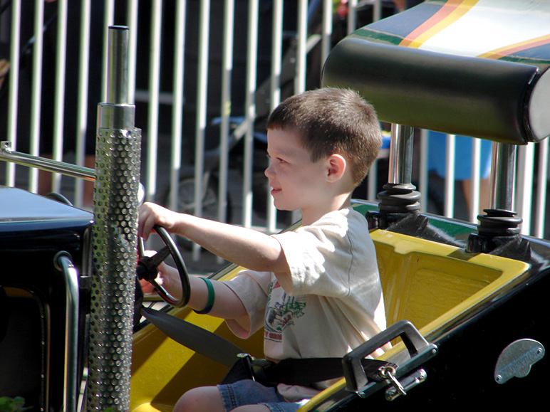
M 129 101 L 143 129 L 147 199 L 180 210 L 185 201 L 185 210 L 199 216 L 276 231 L 284 223 L 257 182 L 265 158 L 262 120 L 282 98 L 319 85 L 334 41 L 393 13 L 389 1 L 344 3 L 347 9 L 332 0 L 0 0 L 0 73 L 9 65 L 0 88 L 1 140 L 85 165 L 93 154 L 95 105 L 105 101 L 108 26 L 129 26 Z M 426 210 L 437 196 L 428 196 L 435 184 L 427 172 L 428 139 L 420 134 L 415 176 Z M 447 137 L 442 211 L 476 221 L 477 195 L 469 216 L 460 216 L 467 207 L 454 190 L 453 142 Z M 472 159 L 479 163 L 477 143 Z M 524 233 L 544 237 L 547 140 L 520 147 L 518 159 L 515 208 Z M 368 178 L 367 199 L 385 179 L 383 162 L 378 179 L 378 169 Z M 479 174 L 472 182 L 477 193 Z M 43 190 L 36 170 L 14 164 L 0 167 L 0 184 Z M 53 176 L 50 185 L 85 206 L 83 181 Z

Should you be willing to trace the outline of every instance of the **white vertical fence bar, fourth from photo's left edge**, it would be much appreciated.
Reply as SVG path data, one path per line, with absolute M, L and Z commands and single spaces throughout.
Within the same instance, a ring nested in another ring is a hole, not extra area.
M 78 112 L 76 119 L 76 164 L 83 165 L 88 128 L 88 65 L 90 63 L 91 0 L 81 3 L 80 56 L 78 57 Z M 83 206 L 84 181 L 75 180 L 75 204 Z

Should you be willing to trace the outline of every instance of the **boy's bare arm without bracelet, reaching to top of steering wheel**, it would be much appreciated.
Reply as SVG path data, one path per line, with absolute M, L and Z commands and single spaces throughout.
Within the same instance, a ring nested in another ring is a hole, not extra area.
M 261 272 L 274 272 L 283 284 L 290 282 L 290 268 L 275 238 L 249 228 L 197 218 L 146 203 L 140 207 L 138 233 L 147 238 L 158 224 L 170 233 L 185 236 L 232 263 Z

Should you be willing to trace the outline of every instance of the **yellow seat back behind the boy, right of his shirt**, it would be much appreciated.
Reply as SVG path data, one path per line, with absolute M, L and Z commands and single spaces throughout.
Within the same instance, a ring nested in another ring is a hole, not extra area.
M 421 329 L 444 315 L 465 312 L 529 269 L 519 260 L 465 253 L 400 233 L 375 230 L 370 236 L 388 324 L 407 319 Z

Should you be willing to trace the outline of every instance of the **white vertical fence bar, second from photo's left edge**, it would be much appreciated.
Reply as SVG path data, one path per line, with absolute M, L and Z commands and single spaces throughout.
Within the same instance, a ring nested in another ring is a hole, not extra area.
M 42 56 L 44 4 L 36 0 L 34 14 L 33 79 L 31 92 L 31 144 L 29 152 L 38 156 L 40 147 L 40 112 L 42 95 Z M 38 169 L 28 171 L 28 190 L 38 191 Z

